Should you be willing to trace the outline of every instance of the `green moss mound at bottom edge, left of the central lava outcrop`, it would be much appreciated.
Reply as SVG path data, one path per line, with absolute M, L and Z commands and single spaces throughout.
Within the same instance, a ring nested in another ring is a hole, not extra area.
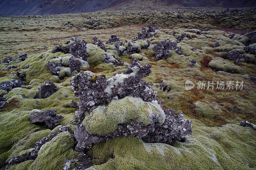
M 60 133 L 50 142 L 44 144 L 38 156 L 28 170 L 49 169 L 56 170 L 63 167 L 64 159 L 75 159 L 78 152 L 73 150 L 74 140 L 69 133 Z

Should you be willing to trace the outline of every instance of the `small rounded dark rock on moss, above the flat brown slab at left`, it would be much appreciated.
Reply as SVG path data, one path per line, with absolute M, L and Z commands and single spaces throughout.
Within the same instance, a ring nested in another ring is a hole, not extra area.
M 54 82 L 52 81 L 45 81 L 41 86 L 38 88 L 38 93 L 42 99 L 51 96 L 53 93 L 58 91 L 60 88 L 57 87 Z

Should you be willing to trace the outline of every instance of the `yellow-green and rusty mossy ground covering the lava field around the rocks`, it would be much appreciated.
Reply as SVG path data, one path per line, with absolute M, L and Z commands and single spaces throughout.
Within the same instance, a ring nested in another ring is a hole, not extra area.
M 165 13 L 166 11 L 142 11 L 140 14 L 138 14 L 138 11 L 127 11 L 124 15 L 118 15 L 123 17 L 116 17 L 116 14 L 120 14 L 118 10 L 109 13 L 101 11 L 58 15 L 58 22 L 56 22 L 56 16 L 1 16 L 1 59 L 10 55 L 18 56 L 22 52 L 28 53 L 28 59 L 21 63 L 16 63 L 17 68 L 1 70 L 0 82 L 9 81 L 11 78 L 17 79 L 19 77 L 12 75 L 11 72 L 23 69 L 28 64 L 30 67 L 22 71 L 26 74 L 26 89 L 13 89 L 5 96 L 8 98 L 9 103 L 4 109 L 0 110 L 0 166 L 3 166 L 13 156 L 22 155 L 33 148 L 37 140 L 53 131 L 58 131 L 58 129 L 50 131 L 42 126 L 31 124 L 28 120 L 31 114 L 29 111 L 33 109 L 56 109 L 57 114 L 64 117 L 61 120 L 61 125 L 75 124 L 75 117 L 73 116 L 75 109 L 70 108 L 68 103 L 72 99 L 79 102 L 79 99 L 74 96 L 71 90 L 71 77 L 56 79 L 46 67 L 51 57 L 66 57 L 70 56 L 70 54 L 52 54 L 51 50 L 54 46 L 65 44 L 73 36 L 85 39 L 88 43 L 92 42 L 92 37 L 94 36 L 106 42 L 111 34 L 116 34 L 122 39 L 129 40 L 137 36 L 142 26 L 154 24 L 160 26 L 161 32 L 149 39 L 151 43 L 148 49 L 141 50 L 139 53 L 142 56 L 142 60 L 139 61 L 141 65 L 145 63 L 152 65 L 152 73 L 144 80 L 148 83 L 153 83 L 153 89 L 158 92 L 159 101 L 164 101 L 164 108 L 183 111 L 185 118 L 192 121 L 192 136 L 186 137 L 184 142 L 176 142 L 173 146 L 145 144 L 133 137 L 111 139 L 105 143 L 95 145 L 89 151 L 93 162 L 97 164 L 93 168 L 256 168 L 255 131 L 249 127 L 237 125 L 242 120 L 248 120 L 256 124 L 256 85 L 248 79 L 242 78 L 244 74 L 255 76 L 255 65 L 253 63 L 242 63 L 241 66 L 236 66 L 239 70 L 243 70 L 237 74 L 215 72 L 208 67 L 211 60 L 216 60 L 215 56 L 223 57 L 232 49 L 244 49 L 245 46 L 242 42 L 246 41 L 246 39 L 236 34 L 236 40 L 231 40 L 228 37 L 228 32 L 220 30 L 210 30 L 202 32 L 202 34 L 189 32 L 190 28 L 201 29 L 208 27 L 216 29 L 218 26 L 236 29 L 256 29 L 255 23 L 249 22 L 250 18 L 255 16 L 252 11 L 241 9 L 237 14 L 231 15 L 228 13 L 228 17 L 225 17 L 225 13 L 221 12 L 221 10 L 209 10 L 207 13 L 197 11 L 173 11 L 170 13 L 168 13 L 169 11 L 167 13 Z M 183 19 L 176 18 L 178 14 L 182 14 Z M 241 18 L 241 15 L 244 18 Z M 95 30 L 78 30 L 76 26 L 82 24 L 85 20 L 84 18 L 89 16 L 92 17 L 91 20 L 96 20 L 97 18 L 110 19 L 106 23 L 102 23 L 101 27 L 105 29 L 100 27 Z M 190 18 L 191 16 L 193 16 L 192 19 Z M 170 20 L 170 18 L 174 19 Z M 216 24 L 216 18 L 219 18 L 222 22 Z M 143 22 L 144 19 L 146 22 Z M 74 26 L 65 25 L 67 20 L 74 22 Z M 247 20 L 249 24 L 244 24 Z M 172 34 L 173 31 L 177 32 L 175 36 Z M 177 36 L 185 32 L 188 33 L 188 37 L 178 43 L 178 46 L 181 46 L 182 49 L 181 56 L 173 51 L 172 57 L 155 61 L 152 45 L 166 38 L 171 41 L 176 40 Z M 221 46 L 214 49 L 212 45 L 216 41 Z M 196 47 L 196 51 L 192 51 L 192 47 Z M 110 51 L 108 50 L 108 52 Z M 184 53 L 188 53 L 190 56 L 185 57 Z M 140 59 L 141 56 L 139 56 Z M 128 54 L 120 57 L 118 60 L 125 63 L 130 63 L 132 58 Z M 191 59 L 195 59 L 197 62 L 193 68 L 189 67 L 189 60 Z M 234 65 L 234 61 L 224 61 L 229 65 Z M 1 68 L 2 66 L 5 67 L 6 64 L 1 64 Z M 109 78 L 118 72 L 124 71 L 126 67 L 116 67 L 112 64 L 99 62 L 96 66 L 91 65 L 86 69 L 97 74 L 106 74 L 107 78 Z M 41 83 L 49 80 L 54 80 L 60 90 L 46 99 L 33 99 Z M 187 91 L 184 85 L 186 80 L 191 80 L 194 83 L 199 80 L 206 82 L 244 81 L 244 89 L 192 89 Z M 170 86 L 169 92 L 156 88 L 156 85 L 162 81 L 164 81 L 164 85 L 168 84 Z M 1 93 L 4 92 L 1 91 Z M 20 95 L 28 97 L 23 98 Z M 44 145 L 36 160 L 28 160 L 8 168 L 60 169 L 64 164 L 64 159 L 76 157 L 77 152 L 73 151 L 73 147 L 72 138 L 67 133 L 61 133 L 52 142 Z

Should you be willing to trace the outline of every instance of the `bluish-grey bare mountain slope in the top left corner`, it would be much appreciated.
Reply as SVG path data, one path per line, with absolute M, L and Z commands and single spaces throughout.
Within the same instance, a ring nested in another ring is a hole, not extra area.
M 0 15 L 45 15 L 92 12 L 111 7 L 118 0 L 1 0 Z

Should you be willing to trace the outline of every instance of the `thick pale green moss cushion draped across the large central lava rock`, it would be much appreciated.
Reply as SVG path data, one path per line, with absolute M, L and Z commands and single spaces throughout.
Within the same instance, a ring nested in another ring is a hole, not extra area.
M 164 123 L 165 114 L 160 105 L 126 96 L 113 100 L 108 106 L 98 106 L 91 114 L 86 115 L 82 124 L 89 133 L 103 135 L 115 131 L 118 124 L 125 124 L 131 120 L 150 124 L 154 116 L 160 124 Z

